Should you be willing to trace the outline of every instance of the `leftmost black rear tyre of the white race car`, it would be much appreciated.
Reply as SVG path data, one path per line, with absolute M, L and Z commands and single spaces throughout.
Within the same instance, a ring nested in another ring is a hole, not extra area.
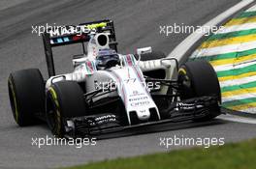
M 40 70 L 18 70 L 11 73 L 8 90 L 16 124 L 20 127 L 37 124 L 39 121 L 35 114 L 45 111 L 45 85 Z

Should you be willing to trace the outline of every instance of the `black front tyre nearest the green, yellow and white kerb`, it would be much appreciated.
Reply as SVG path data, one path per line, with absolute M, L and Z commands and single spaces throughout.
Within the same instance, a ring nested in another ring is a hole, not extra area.
M 180 99 L 193 99 L 204 96 L 215 96 L 221 103 L 219 81 L 215 70 L 206 61 L 187 62 L 178 70 L 178 82 L 181 85 Z M 196 121 L 208 121 L 220 114 L 218 105 L 210 110 L 207 117 Z

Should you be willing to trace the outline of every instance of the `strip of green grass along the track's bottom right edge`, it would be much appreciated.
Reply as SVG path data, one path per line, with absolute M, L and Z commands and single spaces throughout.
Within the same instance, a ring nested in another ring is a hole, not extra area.
M 114 152 L 113 152 L 114 153 Z M 67 169 L 255 169 L 256 139 L 222 147 L 193 148 L 117 158 Z

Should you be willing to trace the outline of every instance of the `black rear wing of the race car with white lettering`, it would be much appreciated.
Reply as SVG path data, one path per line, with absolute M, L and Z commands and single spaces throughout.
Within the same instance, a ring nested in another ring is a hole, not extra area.
M 110 46 L 117 51 L 113 21 L 109 19 L 80 23 L 77 26 L 65 25 L 48 29 L 42 35 L 48 65 L 48 76 L 55 75 L 53 47 L 81 43 L 83 53 L 85 53 L 84 42 L 90 41 L 92 33 L 109 33 Z

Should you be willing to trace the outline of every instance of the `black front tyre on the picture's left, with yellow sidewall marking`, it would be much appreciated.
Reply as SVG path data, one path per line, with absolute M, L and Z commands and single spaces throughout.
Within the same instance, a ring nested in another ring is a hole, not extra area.
M 75 81 L 53 83 L 47 93 L 47 121 L 53 135 L 63 137 L 66 119 L 86 115 L 80 85 Z

